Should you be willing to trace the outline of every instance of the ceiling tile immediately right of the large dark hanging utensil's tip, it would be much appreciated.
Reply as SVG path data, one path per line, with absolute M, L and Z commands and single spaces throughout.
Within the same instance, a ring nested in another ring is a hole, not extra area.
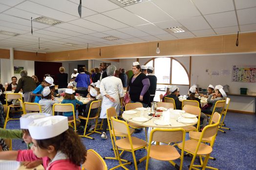
M 112 29 L 119 29 L 119 28 L 125 28 L 128 27 L 128 25 L 123 24 L 122 22 L 119 22 L 117 20 L 114 20 L 110 17 L 106 17 L 102 14 L 96 14 L 93 16 L 89 16 L 89 17 L 85 17 L 85 19 L 98 23 L 100 25 L 104 25 L 108 28 L 112 28 Z

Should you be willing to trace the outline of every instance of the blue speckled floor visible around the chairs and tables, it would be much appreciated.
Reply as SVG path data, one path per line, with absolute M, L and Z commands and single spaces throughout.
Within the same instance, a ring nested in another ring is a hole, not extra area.
M 211 156 L 216 160 L 209 160 L 208 166 L 221 170 L 256 170 L 256 116 L 238 113 L 228 113 L 225 120 L 231 130 L 227 133 L 218 132 Z M 19 129 L 19 120 L 9 121 L 7 129 Z M 94 149 L 102 157 L 114 156 L 111 140 L 107 133 L 108 139 L 101 139 L 100 134 L 93 134 L 95 140 L 82 138 L 87 149 Z M 145 139 L 145 132 L 134 134 L 139 138 Z M 26 149 L 25 143 L 21 140 L 13 140 L 13 150 Z M 137 151 L 137 160 L 147 154 L 146 150 Z M 131 153 L 125 153 L 124 159 L 133 161 Z M 184 157 L 183 169 L 187 170 L 190 165 L 191 157 Z M 177 161 L 179 163 L 179 161 Z M 198 160 L 196 160 L 198 163 Z M 106 160 L 108 169 L 118 165 L 117 160 Z M 139 170 L 145 170 L 146 161 L 138 165 Z M 128 169 L 134 170 L 134 166 L 128 165 Z M 121 170 L 119 168 L 118 170 Z M 175 170 L 168 162 L 162 162 L 150 159 L 149 170 Z

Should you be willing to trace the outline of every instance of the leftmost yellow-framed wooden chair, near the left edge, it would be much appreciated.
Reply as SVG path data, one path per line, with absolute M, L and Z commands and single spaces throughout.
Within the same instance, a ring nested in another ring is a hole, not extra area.
M 19 99 L 22 101 L 22 95 L 21 95 L 21 93 L 6 93 L 5 99 L 6 99 L 6 106 L 8 108 L 7 108 L 7 111 L 5 113 L 6 118 L 5 118 L 4 126 L 3 126 L 4 129 L 6 128 L 6 124 L 9 120 L 19 120 L 18 118 L 10 118 L 9 117 L 10 109 L 15 108 L 15 107 L 22 107 L 21 105 L 13 105 L 13 104 L 8 105 L 7 101 L 8 100 L 19 100 Z M 19 110 L 19 111 L 21 111 L 21 110 Z

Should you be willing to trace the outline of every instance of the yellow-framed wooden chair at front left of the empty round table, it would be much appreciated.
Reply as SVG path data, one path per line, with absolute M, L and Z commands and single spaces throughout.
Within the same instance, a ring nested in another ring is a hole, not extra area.
M 114 138 L 115 147 L 116 147 L 115 149 L 117 151 L 116 153 L 117 153 L 120 167 L 128 170 L 125 167 L 125 165 L 130 164 L 130 162 L 122 163 L 122 160 L 120 158 L 119 148 L 124 151 L 128 151 L 128 152 L 132 153 L 135 170 L 138 170 L 137 164 L 139 164 L 142 160 L 145 160 L 146 156 L 137 161 L 136 157 L 135 157 L 135 151 L 140 150 L 140 149 L 145 149 L 147 147 L 148 143 L 142 139 L 137 138 L 137 137 L 130 136 L 130 128 L 125 121 L 118 120 L 118 119 L 111 117 L 111 125 L 112 125 L 112 129 L 113 129 L 113 138 Z M 117 139 L 116 138 L 117 136 L 115 135 L 116 131 L 123 133 L 128 137 Z

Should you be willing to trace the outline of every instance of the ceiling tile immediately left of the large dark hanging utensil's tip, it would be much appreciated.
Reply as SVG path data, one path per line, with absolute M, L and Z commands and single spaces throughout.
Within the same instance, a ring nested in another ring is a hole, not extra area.
M 37 3 L 30 2 L 30 1 L 25 1 L 25 2 L 15 6 L 15 8 L 18 8 L 18 9 L 21 9 L 24 11 L 29 11 L 31 13 L 42 15 L 45 17 L 58 19 L 58 20 L 64 21 L 64 22 L 78 18 L 78 17 L 71 16 L 66 13 L 63 13 L 63 12 L 60 12 L 60 11 L 45 7 L 43 5 L 39 5 Z

